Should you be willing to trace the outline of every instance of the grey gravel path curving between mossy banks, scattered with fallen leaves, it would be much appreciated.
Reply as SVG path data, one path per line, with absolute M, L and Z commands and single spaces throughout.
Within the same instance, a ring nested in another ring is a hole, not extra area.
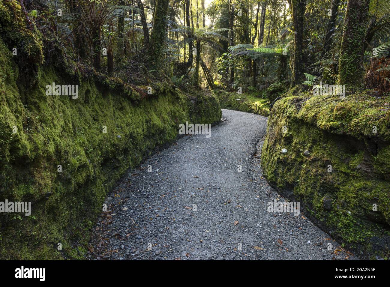
M 303 214 L 267 212 L 268 202 L 285 199 L 262 177 L 266 126 L 266 117 L 222 110 L 210 138 L 184 136 L 145 160 L 109 195 L 87 257 L 357 259 L 335 252 L 340 244 Z

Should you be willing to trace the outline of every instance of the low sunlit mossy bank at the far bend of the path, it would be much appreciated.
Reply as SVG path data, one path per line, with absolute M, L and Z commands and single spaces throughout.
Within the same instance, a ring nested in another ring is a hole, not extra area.
M 254 96 L 254 94 L 238 94 L 223 90 L 217 90 L 215 93 L 220 100 L 221 108 L 256 113 L 257 115 L 269 115 L 269 101 L 267 98 L 259 98 Z

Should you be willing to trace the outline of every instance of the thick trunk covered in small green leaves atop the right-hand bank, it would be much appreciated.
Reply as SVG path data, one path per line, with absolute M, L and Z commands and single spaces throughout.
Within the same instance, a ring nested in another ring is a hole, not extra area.
M 356 87 L 362 81 L 363 47 L 369 0 L 348 0 L 339 58 L 339 84 Z

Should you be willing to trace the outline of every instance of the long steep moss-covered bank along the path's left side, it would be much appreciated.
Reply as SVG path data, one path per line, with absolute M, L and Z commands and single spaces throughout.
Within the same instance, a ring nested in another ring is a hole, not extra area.
M 94 73 L 67 76 L 50 65 L 39 68 L 31 89 L 20 89 L 19 78 L 0 39 L 0 201 L 32 202 L 30 216 L 0 214 L 0 259 L 82 258 L 121 175 L 173 142 L 180 123 L 221 119 L 213 94 L 187 95 L 168 84 L 149 95 L 147 87 Z M 78 85 L 78 97 L 46 95 L 52 83 Z

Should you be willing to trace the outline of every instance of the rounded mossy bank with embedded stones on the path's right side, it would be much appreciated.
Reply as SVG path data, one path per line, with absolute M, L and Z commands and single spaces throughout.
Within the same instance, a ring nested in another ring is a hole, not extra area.
M 390 97 L 291 90 L 271 109 L 261 159 L 269 183 L 343 246 L 388 257 Z

